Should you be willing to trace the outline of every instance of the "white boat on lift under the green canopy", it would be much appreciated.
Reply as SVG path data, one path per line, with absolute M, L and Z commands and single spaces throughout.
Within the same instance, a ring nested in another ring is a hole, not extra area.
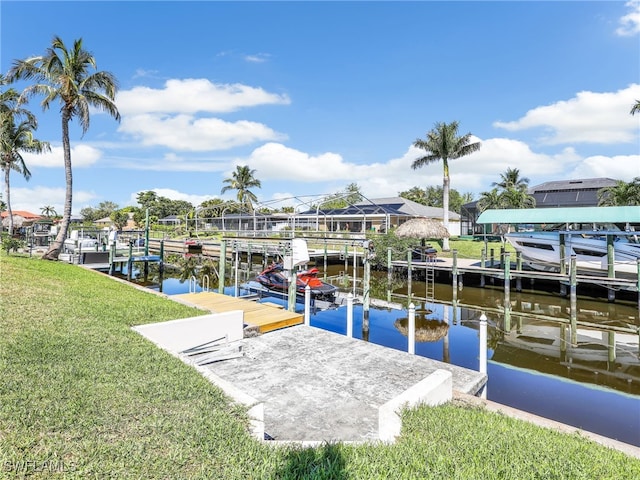
M 613 266 L 616 273 L 636 274 L 640 258 L 640 242 L 634 232 L 600 231 L 539 231 L 513 232 L 505 239 L 522 255 L 524 264 L 536 270 L 557 272 L 560 269 L 560 234 L 565 234 L 564 258 L 567 265 L 576 256 L 579 271 L 607 274 L 607 236 L 613 238 Z

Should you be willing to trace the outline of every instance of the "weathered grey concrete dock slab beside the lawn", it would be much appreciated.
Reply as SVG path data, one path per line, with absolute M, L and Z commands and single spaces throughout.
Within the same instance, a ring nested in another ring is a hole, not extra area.
M 200 368 L 236 400 L 262 403 L 274 440 L 377 440 L 379 407 L 436 370 L 452 373 L 457 392 L 486 383 L 479 372 L 305 325 L 242 342 L 244 356 Z

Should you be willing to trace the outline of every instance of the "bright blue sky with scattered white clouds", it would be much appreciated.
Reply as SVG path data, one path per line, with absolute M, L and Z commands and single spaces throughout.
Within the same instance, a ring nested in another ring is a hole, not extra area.
M 507 168 L 531 185 L 640 176 L 637 0 L 2 0 L 0 22 L 2 72 L 57 35 L 118 78 L 120 123 L 71 124 L 74 212 L 145 190 L 197 205 L 237 165 L 272 207 L 352 182 L 368 198 L 438 186 L 441 163 L 412 170 L 412 144 L 453 120 L 482 142 L 450 164 L 452 188 L 476 198 Z M 61 212 L 60 116 L 39 100 L 53 149 L 25 155 L 32 178 L 12 175 L 11 203 Z

